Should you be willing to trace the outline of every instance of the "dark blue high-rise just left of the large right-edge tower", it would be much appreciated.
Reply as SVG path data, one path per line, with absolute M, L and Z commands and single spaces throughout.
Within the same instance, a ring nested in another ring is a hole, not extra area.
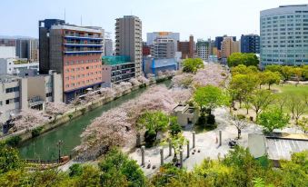
M 260 36 L 258 34 L 242 34 L 241 53 L 260 54 Z

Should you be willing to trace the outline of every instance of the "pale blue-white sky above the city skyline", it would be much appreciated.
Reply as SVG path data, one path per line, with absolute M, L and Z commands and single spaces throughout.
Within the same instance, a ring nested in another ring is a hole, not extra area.
M 114 34 L 114 19 L 137 15 L 143 38 L 153 31 L 189 34 L 195 38 L 259 33 L 259 14 L 279 5 L 307 0 L 1 0 L 0 35 L 38 37 L 38 20 L 60 18 L 70 24 L 102 26 Z M 66 14 L 65 14 L 66 12 Z

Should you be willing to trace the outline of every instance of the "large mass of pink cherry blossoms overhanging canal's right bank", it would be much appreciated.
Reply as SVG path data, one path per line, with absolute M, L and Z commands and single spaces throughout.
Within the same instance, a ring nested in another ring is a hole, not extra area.
M 174 99 L 177 94 L 175 98 L 180 97 L 179 92 L 155 85 L 138 98 L 103 113 L 86 128 L 82 134 L 82 143 L 76 150 L 82 154 L 97 155 L 112 146 L 130 144 L 127 143 L 129 140 L 134 143 L 138 118 L 148 111 L 171 113 L 177 104 Z

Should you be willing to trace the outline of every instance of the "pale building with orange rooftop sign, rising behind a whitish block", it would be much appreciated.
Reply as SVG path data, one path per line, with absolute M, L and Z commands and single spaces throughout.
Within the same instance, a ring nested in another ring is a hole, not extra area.
M 174 39 L 174 51 L 177 51 L 177 42 L 180 41 L 180 34 L 173 32 L 153 32 L 146 34 L 146 44 L 152 45 L 157 38 Z

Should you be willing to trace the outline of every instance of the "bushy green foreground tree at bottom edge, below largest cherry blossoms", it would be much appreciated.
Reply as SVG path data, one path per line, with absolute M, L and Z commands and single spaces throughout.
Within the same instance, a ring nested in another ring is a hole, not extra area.
M 98 166 L 102 171 L 104 186 L 144 186 L 144 172 L 134 160 L 118 149 L 107 153 Z

